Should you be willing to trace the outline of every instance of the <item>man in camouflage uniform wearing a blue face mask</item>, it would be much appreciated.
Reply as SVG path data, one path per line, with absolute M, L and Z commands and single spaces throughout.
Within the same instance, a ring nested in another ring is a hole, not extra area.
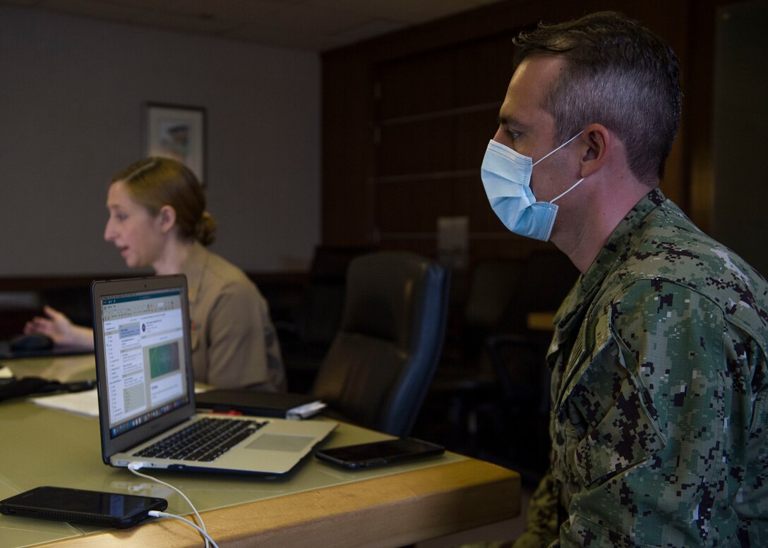
M 510 229 L 582 272 L 555 317 L 551 463 L 515 547 L 768 546 L 768 284 L 657 188 L 674 52 L 611 12 L 515 43 L 493 140 L 544 160 L 525 193 L 558 200 L 551 233 L 494 190 L 503 169 L 484 160 L 483 182 Z

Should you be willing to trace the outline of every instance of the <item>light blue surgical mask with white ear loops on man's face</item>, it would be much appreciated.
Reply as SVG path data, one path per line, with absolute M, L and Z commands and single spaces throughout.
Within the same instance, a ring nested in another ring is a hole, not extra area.
M 581 131 L 536 163 L 545 160 L 579 135 Z M 531 191 L 531 171 L 536 163 L 533 163 L 531 157 L 491 140 L 485 150 L 480 175 L 491 208 L 504 226 L 520 236 L 546 242 L 552 233 L 554 217 L 558 214 L 558 206 L 554 202 L 574 190 L 584 177 L 551 202 L 538 202 Z

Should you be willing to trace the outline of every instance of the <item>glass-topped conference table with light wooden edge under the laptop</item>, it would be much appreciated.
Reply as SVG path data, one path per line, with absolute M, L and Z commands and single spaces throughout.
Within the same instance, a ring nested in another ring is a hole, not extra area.
M 17 376 L 92 378 L 93 356 L 5 362 Z M 174 491 L 101 461 L 98 419 L 29 401 L 0 403 L 0 499 L 57 485 L 131 492 L 168 500 L 188 515 Z M 389 436 L 339 424 L 325 447 Z M 346 471 L 310 457 L 287 477 L 184 474 L 152 470 L 196 504 L 221 548 L 227 546 L 406 546 L 516 517 L 517 473 L 457 454 L 378 470 Z M 127 530 L 101 530 L 0 515 L 0 546 L 203 546 L 177 520 L 147 520 Z

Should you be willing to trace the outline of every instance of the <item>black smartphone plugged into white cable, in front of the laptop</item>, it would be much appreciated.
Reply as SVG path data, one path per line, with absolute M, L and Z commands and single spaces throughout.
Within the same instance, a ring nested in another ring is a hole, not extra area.
M 159 497 L 48 486 L 35 487 L 0 500 L 0 513 L 6 516 L 38 517 L 119 529 L 133 527 L 144 520 L 150 510 L 162 511 L 167 507 L 167 501 Z

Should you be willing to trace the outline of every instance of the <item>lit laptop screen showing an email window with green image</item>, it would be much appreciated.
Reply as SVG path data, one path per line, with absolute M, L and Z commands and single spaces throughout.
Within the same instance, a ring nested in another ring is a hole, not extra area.
M 101 299 L 111 437 L 189 402 L 181 291 Z

